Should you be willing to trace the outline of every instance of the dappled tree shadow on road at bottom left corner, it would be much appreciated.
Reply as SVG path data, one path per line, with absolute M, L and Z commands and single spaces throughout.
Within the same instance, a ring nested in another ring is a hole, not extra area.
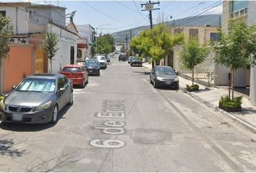
M 12 139 L 1 139 L 0 140 L 0 156 L 11 156 L 20 157 L 25 150 L 19 151 L 18 149 L 12 148 L 14 141 Z

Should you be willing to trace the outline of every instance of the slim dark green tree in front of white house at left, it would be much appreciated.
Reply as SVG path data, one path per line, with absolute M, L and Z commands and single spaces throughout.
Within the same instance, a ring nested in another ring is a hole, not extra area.
M 46 45 L 45 51 L 46 56 L 50 60 L 50 73 L 53 71 L 52 59 L 56 55 L 56 52 L 59 48 L 57 48 L 58 38 L 54 33 L 46 33 Z

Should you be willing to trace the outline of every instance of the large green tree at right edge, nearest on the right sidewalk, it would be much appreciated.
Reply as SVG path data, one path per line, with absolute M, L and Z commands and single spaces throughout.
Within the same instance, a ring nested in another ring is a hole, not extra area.
M 218 41 L 213 43 L 213 48 L 216 51 L 216 63 L 231 70 L 231 90 L 232 99 L 234 99 L 234 72 L 256 63 L 255 25 L 229 22 L 229 32 L 220 32 Z

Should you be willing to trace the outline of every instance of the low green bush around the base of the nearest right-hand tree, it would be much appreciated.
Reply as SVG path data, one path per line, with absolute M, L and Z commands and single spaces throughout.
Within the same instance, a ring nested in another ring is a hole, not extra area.
M 242 105 L 242 96 L 230 99 L 228 96 L 221 97 L 218 104 L 222 107 L 240 108 Z

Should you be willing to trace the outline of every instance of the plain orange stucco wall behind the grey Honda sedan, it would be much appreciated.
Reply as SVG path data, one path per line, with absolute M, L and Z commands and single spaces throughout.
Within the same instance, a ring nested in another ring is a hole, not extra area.
M 12 85 L 19 84 L 24 75 L 33 74 L 33 52 L 33 45 L 11 44 L 8 57 L 4 59 L 2 92 L 11 91 Z

